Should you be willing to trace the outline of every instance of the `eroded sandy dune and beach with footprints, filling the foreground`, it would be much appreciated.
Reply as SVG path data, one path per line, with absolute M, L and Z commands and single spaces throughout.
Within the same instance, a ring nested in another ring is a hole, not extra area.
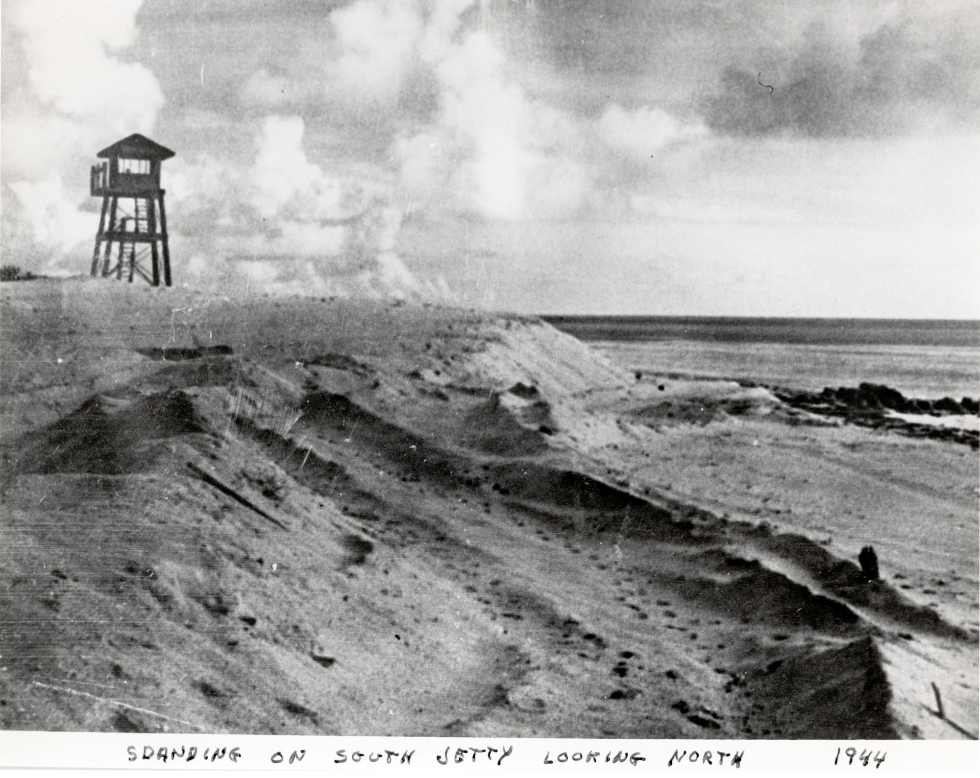
M 961 737 L 931 682 L 976 720 L 968 447 L 536 319 L 2 294 L 4 727 Z

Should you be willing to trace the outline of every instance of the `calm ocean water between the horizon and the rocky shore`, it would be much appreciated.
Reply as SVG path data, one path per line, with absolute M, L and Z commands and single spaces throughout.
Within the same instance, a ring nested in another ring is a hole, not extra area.
M 980 396 L 980 321 L 545 316 L 633 371 L 819 391 L 887 384 L 907 397 Z

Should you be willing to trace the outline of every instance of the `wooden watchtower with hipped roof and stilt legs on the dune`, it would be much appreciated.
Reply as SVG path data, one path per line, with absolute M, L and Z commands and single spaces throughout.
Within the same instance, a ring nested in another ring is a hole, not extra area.
M 167 243 L 165 191 L 160 166 L 173 152 L 135 133 L 98 153 L 108 160 L 92 167 L 92 197 L 102 198 L 102 216 L 92 252 L 92 275 L 123 278 L 138 275 L 160 286 L 171 285 L 171 252 Z M 149 263 L 147 263 L 149 260 Z

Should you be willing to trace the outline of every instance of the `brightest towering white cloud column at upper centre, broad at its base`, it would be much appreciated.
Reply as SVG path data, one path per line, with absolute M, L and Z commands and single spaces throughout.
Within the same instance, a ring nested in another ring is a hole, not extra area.
M 417 58 L 434 84 L 432 116 L 393 144 L 399 184 L 422 208 L 484 219 L 567 217 L 590 188 L 580 122 L 529 98 L 486 29 L 467 29 L 471 2 L 434 6 Z

